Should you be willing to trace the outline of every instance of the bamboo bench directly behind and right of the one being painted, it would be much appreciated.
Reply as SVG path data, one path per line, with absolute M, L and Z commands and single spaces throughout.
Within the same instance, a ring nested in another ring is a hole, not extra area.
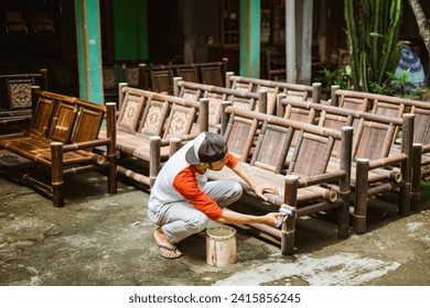
M 281 98 L 279 116 L 284 114 L 286 107 L 313 110 L 314 124 L 341 130 L 344 125 L 354 128 L 352 151 L 352 179 L 354 191 L 353 215 L 354 231 L 366 230 L 367 198 L 399 189 L 399 212 L 410 213 L 411 175 L 412 175 L 412 131 L 413 116 L 404 114 L 393 118 L 334 106 L 297 101 Z M 393 153 L 393 141 L 396 132 L 402 129 L 401 151 Z M 329 169 L 338 167 L 338 145 L 331 158 Z

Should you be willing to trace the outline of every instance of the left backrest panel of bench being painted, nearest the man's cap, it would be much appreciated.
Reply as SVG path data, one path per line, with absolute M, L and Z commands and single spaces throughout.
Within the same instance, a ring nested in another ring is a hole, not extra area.
M 258 128 L 256 119 L 246 119 L 232 113 L 224 134 L 228 152 L 241 162 L 247 162 Z

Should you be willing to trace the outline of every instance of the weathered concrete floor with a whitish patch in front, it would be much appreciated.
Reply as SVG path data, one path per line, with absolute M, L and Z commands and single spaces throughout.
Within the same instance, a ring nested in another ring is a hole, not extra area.
M 278 241 L 235 227 L 237 262 L 214 267 L 197 237 L 179 244 L 181 258 L 160 257 L 142 187 L 120 178 L 118 194 L 106 191 L 97 173 L 69 177 L 66 206 L 53 208 L 40 191 L 0 174 L 0 285 L 430 285 L 430 211 L 401 218 L 374 199 L 369 231 L 343 241 L 330 216 L 303 218 L 293 256 L 281 256 Z

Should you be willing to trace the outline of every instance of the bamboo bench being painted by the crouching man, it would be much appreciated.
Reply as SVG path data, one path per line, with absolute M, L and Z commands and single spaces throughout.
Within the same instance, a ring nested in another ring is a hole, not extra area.
M 289 213 L 281 230 L 266 224 L 250 224 L 250 227 L 280 239 L 281 253 L 288 255 L 294 250 L 298 218 L 337 209 L 337 235 L 340 239 L 347 238 L 352 128 L 345 128 L 341 133 L 240 108 L 226 107 L 224 110 L 226 117 L 223 118 L 225 121 L 223 121 L 222 132 L 227 141 L 228 151 L 246 164 L 248 172 L 258 182 L 278 187 L 279 196 L 272 194 L 265 194 L 265 196 L 270 206 L 280 207 L 280 210 Z M 255 142 L 257 129 L 260 127 Z M 300 138 L 293 155 L 288 157 L 294 132 L 299 132 Z M 343 148 L 342 163 L 336 170 L 327 172 L 329 158 L 335 141 L 338 141 Z M 249 160 L 250 153 L 252 154 Z M 209 178 L 214 180 L 234 178 L 244 186 L 247 196 L 264 204 L 250 187 L 228 168 L 212 172 Z M 341 189 L 334 191 L 322 187 L 323 183 L 336 183 Z

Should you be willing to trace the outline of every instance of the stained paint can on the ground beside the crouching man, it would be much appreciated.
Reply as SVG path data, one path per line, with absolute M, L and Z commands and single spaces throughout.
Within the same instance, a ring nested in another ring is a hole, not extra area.
M 228 226 L 206 229 L 206 263 L 226 266 L 236 262 L 236 230 Z

